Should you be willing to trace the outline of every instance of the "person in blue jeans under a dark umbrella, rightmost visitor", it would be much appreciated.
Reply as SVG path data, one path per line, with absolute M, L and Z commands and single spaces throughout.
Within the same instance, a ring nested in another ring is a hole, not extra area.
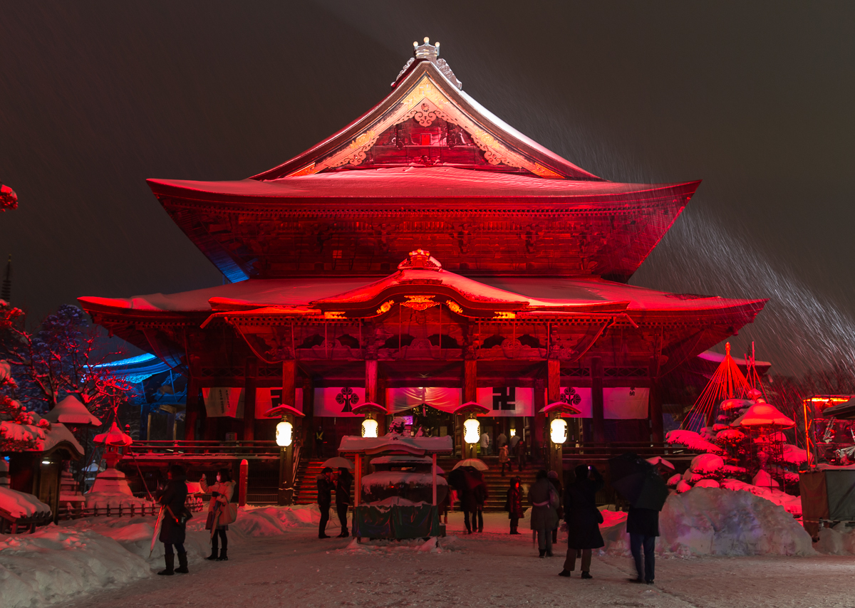
M 610 459 L 609 468 L 612 487 L 629 502 L 629 550 L 638 575 L 629 580 L 652 585 L 655 582 L 654 550 L 659 535 L 659 512 L 668 498 L 668 487 L 656 468 L 634 453 Z

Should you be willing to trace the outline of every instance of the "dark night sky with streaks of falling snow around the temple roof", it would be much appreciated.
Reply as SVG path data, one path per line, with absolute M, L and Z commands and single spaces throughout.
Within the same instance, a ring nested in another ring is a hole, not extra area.
M 145 178 L 239 179 L 374 106 L 429 36 L 486 108 L 604 178 L 703 178 L 631 283 L 769 297 L 734 340 L 852 363 L 855 3 L 3 3 L 12 301 L 221 283 Z M 750 348 L 748 346 L 747 348 Z

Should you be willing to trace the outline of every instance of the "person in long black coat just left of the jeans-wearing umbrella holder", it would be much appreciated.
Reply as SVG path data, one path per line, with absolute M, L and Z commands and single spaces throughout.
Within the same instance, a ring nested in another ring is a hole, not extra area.
M 591 576 L 592 549 L 603 547 L 599 524 L 603 516 L 597 509 L 597 492 L 603 488 L 603 476 L 593 466 L 575 468 L 575 482 L 564 489 L 564 521 L 567 522 L 567 558 L 558 576 L 570 576 L 576 567 L 576 555 L 581 553 L 582 578 Z

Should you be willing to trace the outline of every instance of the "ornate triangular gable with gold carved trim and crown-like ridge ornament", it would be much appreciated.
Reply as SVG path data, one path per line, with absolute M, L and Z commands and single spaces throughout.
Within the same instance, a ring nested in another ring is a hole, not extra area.
M 425 50 L 429 47 L 429 50 Z M 540 178 L 597 176 L 504 125 L 460 88 L 439 47 L 416 45 L 392 93 L 314 148 L 254 179 L 270 181 L 369 167 L 449 166 Z

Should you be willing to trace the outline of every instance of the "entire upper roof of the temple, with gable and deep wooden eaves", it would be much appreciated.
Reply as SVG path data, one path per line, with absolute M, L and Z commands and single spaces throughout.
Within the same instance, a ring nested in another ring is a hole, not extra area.
M 627 281 L 699 182 L 610 182 L 499 120 L 437 44 L 414 44 L 392 92 L 278 167 L 238 181 L 150 179 L 232 282 L 385 276 L 425 243 L 469 277 Z

